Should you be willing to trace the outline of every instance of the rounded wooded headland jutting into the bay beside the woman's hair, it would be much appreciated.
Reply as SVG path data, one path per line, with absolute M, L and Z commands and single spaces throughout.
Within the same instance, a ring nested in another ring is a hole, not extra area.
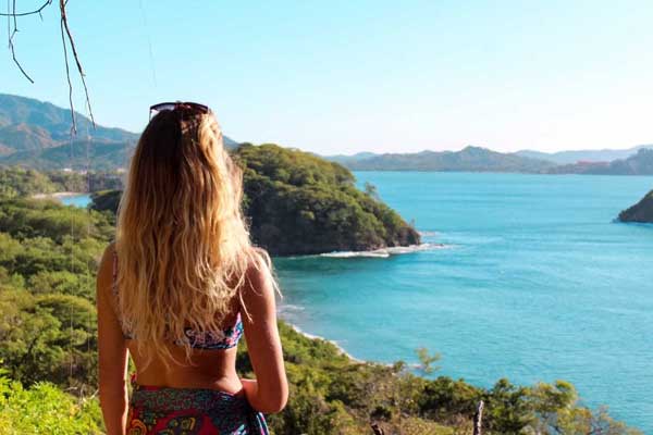
M 419 235 L 337 163 L 276 145 L 242 145 L 245 212 L 254 240 L 275 254 L 412 245 Z

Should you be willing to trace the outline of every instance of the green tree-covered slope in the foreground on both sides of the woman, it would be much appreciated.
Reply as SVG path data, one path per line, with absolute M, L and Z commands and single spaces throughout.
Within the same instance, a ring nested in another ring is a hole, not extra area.
M 113 216 L 12 196 L 0 198 L 0 434 L 52 434 L 53 425 L 61 435 L 101 433 L 94 281 Z M 431 371 L 423 351 L 416 370 L 360 363 L 283 322 L 280 328 L 291 399 L 269 417 L 276 435 L 372 434 L 372 424 L 386 434 L 468 434 L 480 400 L 485 434 L 638 433 L 583 407 L 562 381 L 525 387 L 500 380 L 485 389 L 427 378 L 417 375 Z M 250 375 L 245 350 L 238 371 Z

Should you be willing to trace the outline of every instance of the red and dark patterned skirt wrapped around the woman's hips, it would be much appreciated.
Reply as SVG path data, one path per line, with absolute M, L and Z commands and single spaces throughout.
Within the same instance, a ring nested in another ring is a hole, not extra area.
M 215 389 L 134 383 L 127 435 L 268 435 L 263 414 L 247 399 Z

